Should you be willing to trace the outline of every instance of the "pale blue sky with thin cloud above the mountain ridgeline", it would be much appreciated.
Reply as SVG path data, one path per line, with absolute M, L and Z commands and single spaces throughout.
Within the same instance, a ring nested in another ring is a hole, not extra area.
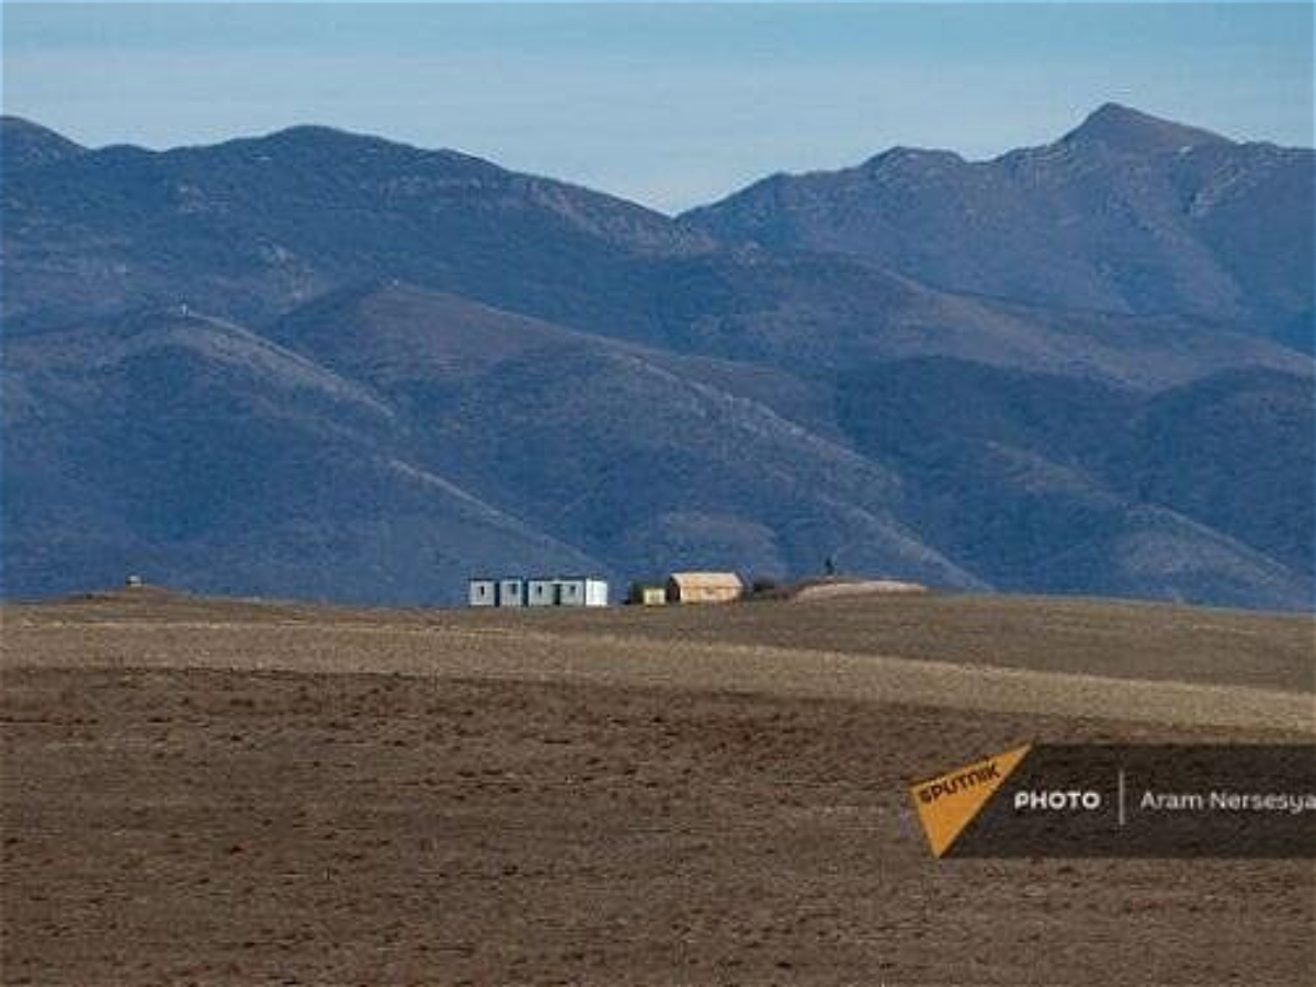
M 1309 3 L 4 3 L 4 112 L 101 146 L 328 124 L 665 212 L 1105 101 L 1312 145 Z

